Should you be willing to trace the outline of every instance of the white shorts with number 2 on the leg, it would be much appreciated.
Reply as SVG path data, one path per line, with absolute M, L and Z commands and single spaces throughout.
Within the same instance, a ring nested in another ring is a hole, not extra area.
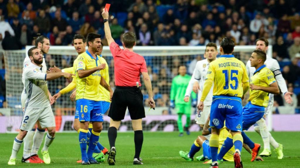
M 41 109 L 27 108 L 24 112 L 20 129 L 24 131 L 32 130 L 37 120 L 42 128 L 55 126 L 55 118 L 51 106 Z

